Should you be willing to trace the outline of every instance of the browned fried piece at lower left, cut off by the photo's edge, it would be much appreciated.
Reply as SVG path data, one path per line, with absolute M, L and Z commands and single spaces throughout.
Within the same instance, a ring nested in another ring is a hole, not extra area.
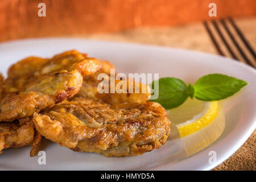
M 32 144 L 30 156 L 35 156 L 39 151 L 40 142 L 41 135 L 30 121 L 0 123 L 0 153 L 5 148 L 18 148 Z

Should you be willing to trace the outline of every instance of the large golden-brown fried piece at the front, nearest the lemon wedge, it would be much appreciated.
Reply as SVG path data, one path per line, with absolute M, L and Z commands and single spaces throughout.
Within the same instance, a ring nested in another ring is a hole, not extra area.
M 32 121 L 41 135 L 60 146 L 108 157 L 141 155 L 166 143 L 171 122 L 161 105 L 114 107 L 75 98 L 35 113 Z

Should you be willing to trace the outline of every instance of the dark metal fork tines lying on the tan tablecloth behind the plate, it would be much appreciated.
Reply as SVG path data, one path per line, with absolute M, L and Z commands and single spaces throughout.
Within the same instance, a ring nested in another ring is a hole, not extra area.
M 214 35 L 213 31 L 210 30 L 209 28 L 210 23 L 212 23 L 212 27 L 217 32 L 217 35 Z M 230 31 L 230 28 L 227 26 L 227 23 L 229 23 L 232 26 L 232 28 L 234 28 L 233 32 L 235 33 L 232 34 L 232 32 Z M 240 30 L 240 28 L 238 28 L 238 26 L 236 25 L 236 23 L 232 18 L 221 19 L 219 23 L 216 20 L 212 20 L 211 22 L 204 22 L 204 26 L 210 36 L 210 39 L 212 40 L 215 48 L 217 49 L 220 55 L 227 56 L 225 55 L 224 51 L 220 47 L 221 44 L 224 44 L 224 46 L 226 47 L 226 49 L 228 49 L 228 52 L 233 57 L 233 59 L 239 60 L 237 56 L 239 53 L 247 64 L 255 68 L 256 53 L 254 49 L 251 47 L 251 45 L 249 44 L 249 42 L 246 40 L 245 36 L 242 34 L 242 31 Z M 228 34 L 228 37 L 225 36 L 225 34 L 223 34 L 223 32 L 220 30 L 221 26 L 224 28 L 224 30 Z M 221 42 L 220 41 L 218 42 L 218 40 L 216 39 L 216 36 L 220 37 Z M 246 55 L 246 52 L 243 51 L 243 49 L 241 48 L 241 45 L 237 42 L 236 38 L 241 40 L 244 47 L 248 50 L 247 52 L 251 54 L 252 59 L 249 59 L 248 55 Z M 234 49 L 232 49 L 232 45 L 228 43 L 227 39 L 232 40 L 232 43 L 238 50 L 237 52 Z

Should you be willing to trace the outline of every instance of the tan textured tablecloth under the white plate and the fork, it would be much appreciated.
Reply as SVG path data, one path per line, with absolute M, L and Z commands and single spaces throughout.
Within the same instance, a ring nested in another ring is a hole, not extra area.
M 235 19 L 235 21 L 255 50 L 256 17 Z M 77 35 L 77 37 L 81 38 L 81 35 Z M 137 28 L 112 34 L 92 34 L 85 36 L 85 38 L 155 44 L 217 54 L 202 23 L 179 27 Z M 255 170 L 255 143 L 256 131 L 235 154 L 214 170 Z

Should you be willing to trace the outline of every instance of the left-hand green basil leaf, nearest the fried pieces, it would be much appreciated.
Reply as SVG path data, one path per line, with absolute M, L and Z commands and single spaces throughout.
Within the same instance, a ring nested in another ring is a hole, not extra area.
M 151 88 L 159 95 L 156 100 L 151 101 L 158 102 L 165 109 L 172 109 L 187 100 L 189 94 L 184 81 L 170 77 L 160 78 L 158 81 L 159 89 L 154 88 L 154 82 L 150 84 Z

